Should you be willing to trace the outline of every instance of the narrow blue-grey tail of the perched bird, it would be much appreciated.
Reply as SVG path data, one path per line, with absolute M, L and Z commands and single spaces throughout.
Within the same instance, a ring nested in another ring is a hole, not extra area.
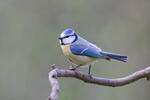
M 105 52 L 105 51 L 102 51 L 101 54 L 108 60 L 115 59 L 115 60 L 119 60 L 119 61 L 123 61 L 123 62 L 127 62 L 127 60 L 128 60 L 127 56 L 123 56 L 120 54 L 115 54 L 115 53 Z

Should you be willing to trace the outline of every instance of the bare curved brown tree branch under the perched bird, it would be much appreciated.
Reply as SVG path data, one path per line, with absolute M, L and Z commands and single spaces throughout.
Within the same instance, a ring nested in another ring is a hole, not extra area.
M 123 86 L 126 84 L 130 84 L 134 81 L 137 81 L 141 78 L 146 78 L 150 80 L 150 66 L 137 71 L 131 75 L 128 75 L 123 78 L 116 78 L 116 79 L 108 79 L 108 78 L 101 78 L 101 77 L 94 77 L 83 72 L 77 70 L 63 70 L 55 67 L 56 65 L 52 65 L 53 70 L 49 72 L 49 81 L 52 86 L 52 92 L 49 96 L 48 100 L 58 100 L 58 91 L 59 91 L 59 84 L 57 81 L 57 77 L 73 77 L 79 80 L 82 80 L 87 83 L 97 84 L 97 85 L 104 85 L 104 86 Z

